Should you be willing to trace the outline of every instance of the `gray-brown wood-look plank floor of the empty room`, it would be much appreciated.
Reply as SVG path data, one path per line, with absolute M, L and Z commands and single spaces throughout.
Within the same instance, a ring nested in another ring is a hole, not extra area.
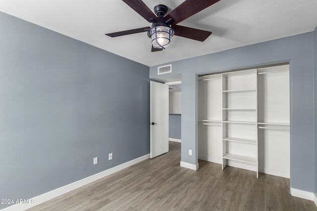
M 199 161 L 180 167 L 180 143 L 170 151 L 40 204 L 29 211 L 317 211 L 292 197 L 289 179 Z

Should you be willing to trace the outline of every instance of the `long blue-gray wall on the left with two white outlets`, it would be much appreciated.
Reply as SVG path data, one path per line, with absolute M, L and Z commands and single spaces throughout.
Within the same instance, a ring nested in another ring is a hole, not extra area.
M 0 199 L 149 154 L 149 90 L 148 66 L 0 12 Z

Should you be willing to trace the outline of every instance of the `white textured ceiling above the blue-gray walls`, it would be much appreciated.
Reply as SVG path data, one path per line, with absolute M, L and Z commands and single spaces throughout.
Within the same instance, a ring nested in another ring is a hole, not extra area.
M 151 10 L 165 4 L 169 11 L 183 2 L 143 1 Z M 311 32 L 317 26 L 317 0 L 220 0 L 178 24 L 211 31 L 205 42 L 174 36 L 165 50 L 151 52 L 146 33 L 105 35 L 151 26 L 121 0 L 0 0 L 0 11 L 147 66 Z

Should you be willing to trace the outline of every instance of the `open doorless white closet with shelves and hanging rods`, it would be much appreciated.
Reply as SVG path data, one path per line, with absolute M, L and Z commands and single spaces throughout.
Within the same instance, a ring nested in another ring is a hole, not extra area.
M 289 178 L 289 64 L 198 76 L 198 159 Z

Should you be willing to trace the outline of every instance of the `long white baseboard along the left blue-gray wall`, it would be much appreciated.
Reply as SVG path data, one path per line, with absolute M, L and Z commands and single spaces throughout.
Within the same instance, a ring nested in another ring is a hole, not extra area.
M 139 157 L 139 158 L 136 158 L 132 161 L 128 161 L 124 164 L 121 164 L 119 166 L 116 166 L 116 167 L 113 167 L 111 169 L 107 169 L 107 170 L 104 170 L 102 172 L 99 172 L 99 173 L 96 173 L 92 176 L 89 176 L 89 177 L 86 177 L 84 179 L 81 179 L 81 180 L 78 180 L 76 182 L 73 182 L 73 183 L 70 183 L 68 185 L 65 185 L 63 187 L 60 187 L 60 188 L 57 188 L 55 190 L 52 190 L 50 192 L 47 192 L 47 193 L 44 193 L 40 196 L 36 196 L 32 199 L 29 199 L 29 202 L 35 202 L 34 204 L 16 204 L 16 205 L 13 205 L 11 207 L 8 207 L 8 208 L 4 208 L 2 209 L 1 211 L 16 211 L 16 210 L 26 210 L 26 209 L 29 209 L 29 208 L 32 208 L 34 206 L 37 206 L 43 202 L 46 202 L 46 201 L 49 201 L 57 196 L 60 196 L 62 194 L 65 194 L 69 191 L 72 191 L 72 190 L 75 190 L 77 188 L 80 188 L 84 185 L 87 185 L 91 182 L 94 182 L 98 179 L 101 179 L 105 176 L 108 176 L 112 173 L 115 173 L 119 170 L 122 170 L 122 169 L 125 169 L 127 167 L 130 167 L 134 164 L 137 164 L 137 163 L 140 163 L 144 160 L 147 160 L 150 158 L 150 154 L 147 154 L 147 155 L 144 155 L 142 157 Z

